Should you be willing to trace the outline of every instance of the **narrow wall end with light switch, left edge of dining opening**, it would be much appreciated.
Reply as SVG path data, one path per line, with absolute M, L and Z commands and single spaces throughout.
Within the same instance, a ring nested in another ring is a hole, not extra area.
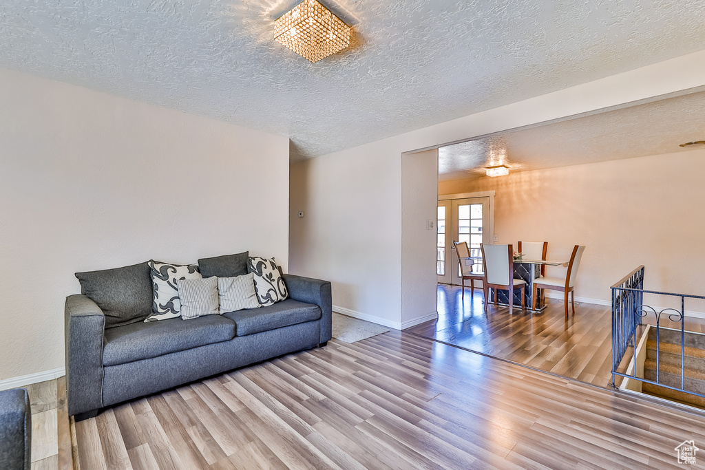
M 401 325 L 436 319 L 439 151 L 405 154 L 401 159 Z M 433 221 L 432 230 L 427 222 Z

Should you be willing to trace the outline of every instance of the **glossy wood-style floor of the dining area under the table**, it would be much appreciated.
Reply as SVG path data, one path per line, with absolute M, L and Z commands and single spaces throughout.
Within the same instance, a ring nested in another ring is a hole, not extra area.
M 482 290 L 439 284 L 438 320 L 421 323 L 405 332 L 447 342 L 541 371 L 606 387 L 612 380 L 611 307 L 575 303 L 565 319 L 563 301 L 546 299 L 541 312 L 494 307 L 485 313 Z M 647 317 L 646 323 L 654 322 Z M 662 326 L 674 327 L 664 319 Z M 680 328 L 680 326 L 678 326 Z M 686 319 L 687 330 L 705 331 L 705 321 Z

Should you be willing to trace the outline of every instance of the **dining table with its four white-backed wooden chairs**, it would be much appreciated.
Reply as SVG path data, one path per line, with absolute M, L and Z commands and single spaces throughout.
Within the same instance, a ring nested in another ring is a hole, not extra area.
M 516 251 L 514 247 L 516 246 Z M 547 259 L 548 242 L 517 242 L 517 245 L 479 244 L 471 256 L 467 242 L 453 240 L 461 281 L 461 298 L 465 298 L 465 281 L 470 281 L 470 296 L 474 296 L 474 283 L 482 283 L 484 310 L 489 304 L 506 306 L 513 314 L 515 306 L 530 311 L 546 309 L 546 290 L 563 292 L 564 313 L 568 319 L 568 298 L 575 314 L 575 280 L 584 245 L 572 248 L 570 259 Z M 479 255 L 479 256 L 478 256 Z M 562 266 L 562 276 L 546 276 L 546 266 Z M 511 293 L 511 294 L 510 294 Z

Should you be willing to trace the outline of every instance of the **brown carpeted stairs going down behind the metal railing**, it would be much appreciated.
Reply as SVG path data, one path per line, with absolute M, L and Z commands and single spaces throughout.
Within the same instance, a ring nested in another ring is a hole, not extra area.
M 685 367 L 683 388 L 705 395 L 705 335 L 686 331 Z M 658 382 L 680 388 L 681 347 L 680 330 L 660 328 L 658 332 Z M 644 378 L 656 381 L 656 328 L 650 328 L 646 341 L 646 361 L 644 361 Z M 642 392 L 705 408 L 705 398 L 689 393 L 670 390 L 644 383 Z

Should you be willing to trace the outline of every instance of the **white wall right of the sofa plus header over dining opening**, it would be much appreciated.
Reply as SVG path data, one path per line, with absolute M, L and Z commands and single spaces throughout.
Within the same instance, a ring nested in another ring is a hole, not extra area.
M 399 325 L 403 153 L 702 85 L 705 51 L 295 163 L 291 209 L 307 215 L 292 219 L 291 271 L 333 281 L 338 311 Z

